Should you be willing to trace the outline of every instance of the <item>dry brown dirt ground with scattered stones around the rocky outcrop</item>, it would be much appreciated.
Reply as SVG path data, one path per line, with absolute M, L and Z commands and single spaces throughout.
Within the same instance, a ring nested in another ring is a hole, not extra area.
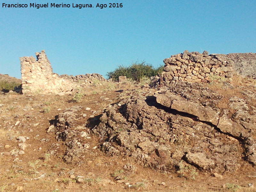
M 0 95 L 0 191 L 256 191 L 247 187 L 256 179 L 255 168 L 249 164 L 235 175 L 224 174 L 223 178 L 205 171 L 194 177 L 178 177 L 175 171 L 162 174 L 127 157 L 106 156 L 93 135 L 88 139 L 90 148 L 83 163 L 66 164 L 62 160 L 65 142 L 57 141 L 54 133 L 47 133 L 55 116 L 66 108 L 82 106 L 86 115 L 76 125 L 85 126 L 92 113 L 99 116 L 108 105 L 118 102 L 121 92 L 117 86 L 109 90 L 89 87 L 84 91 L 86 95 L 79 103 L 72 102 L 74 95 Z M 85 110 L 87 107 L 91 109 Z M 20 155 L 19 136 L 26 138 L 27 145 L 25 154 Z M 60 146 L 58 155 L 49 156 L 49 148 L 56 143 Z M 136 166 L 137 171 L 119 183 L 115 177 L 127 163 Z M 83 176 L 85 182 L 79 182 L 78 176 Z

